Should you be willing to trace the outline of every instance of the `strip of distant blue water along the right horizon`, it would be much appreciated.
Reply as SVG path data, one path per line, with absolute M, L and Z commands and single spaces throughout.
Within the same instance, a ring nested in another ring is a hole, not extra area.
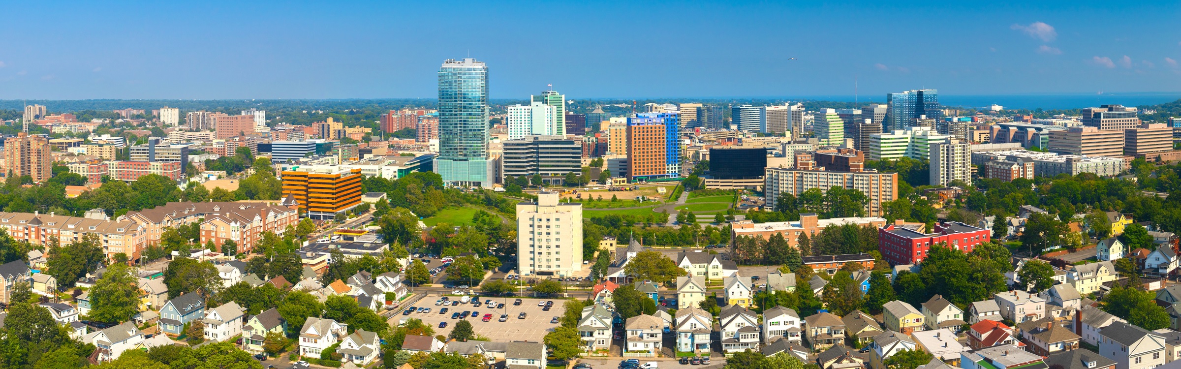
M 853 96 L 809 96 L 810 99 L 852 102 Z M 885 95 L 861 95 L 859 101 L 882 102 Z M 1181 99 L 1181 92 L 1125 92 L 1125 93 L 1030 93 L 1030 95 L 946 95 L 939 93 L 939 103 L 945 106 L 985 108 L 992 104 L 1005 109 L 1079 109 L 1102 104 L 1124 106 L 1155 105 Z

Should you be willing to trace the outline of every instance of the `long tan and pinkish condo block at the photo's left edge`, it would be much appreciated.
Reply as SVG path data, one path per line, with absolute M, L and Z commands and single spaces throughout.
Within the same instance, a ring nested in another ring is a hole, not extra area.
M 40 213 L 0 213 L 0 227 L 18 241 L 33 245 L 50 245 L 57 238 L 60 245 L 80 241 L 86 234 L 94 234 L 107 260 L 116 254 L 125 254 L 129 260 L 139 258 L 148 246 L 148 228 L 129 221 L 77 218 Z

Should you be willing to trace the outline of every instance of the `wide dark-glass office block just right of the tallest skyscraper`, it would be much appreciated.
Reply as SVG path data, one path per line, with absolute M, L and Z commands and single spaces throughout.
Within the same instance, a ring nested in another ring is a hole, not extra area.
M 582 145 L 566 136 L 526 136 L 504 141 L 501 162 L 504 176 L 540 174 L 546 183 L 561 184 L 567 173 L 581 174 Z

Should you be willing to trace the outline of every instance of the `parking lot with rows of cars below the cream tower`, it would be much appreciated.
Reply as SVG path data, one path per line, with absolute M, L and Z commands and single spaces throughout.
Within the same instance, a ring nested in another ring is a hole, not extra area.
M 455 296 L 450 297 L 455 299 Z M 476 335 L 488 337 L 494 342 L 509 342 L 509 341 L 530 341 L 541 342 L 546 334 L 549 334 L 554 328 L 559 326 L 557 323 L 549 323 L 554 317 L 562 316 L 565 312 L 566 300 L 554 299 L 554 306 L 549 311 L 543 311 L 542 306 L 537 306 L 537 302 L 546 302 L 546 299 L 536 298 L 522 298 L 521 305 L 514 306 L 513 300 L 516 298 L 509 297 L 481 297 L 481 302 L 491 299 L 494 303 L 504 304 L 504 309 L 488 309 L 487 305 L 481 304 L 479 308 L 472 306 L 470 303 L 459 304 L 458 306 L 442 306 L 435 305 L 435 300 L 439 299 L 436 296 L 429 296 L 423 298 L 416 308 L 430 308 L 431 312 L 412 312 L 409 316 L 403 316 L 398 313 L 391 318 L 393 322 L 398 322 L 402 318 L 417 318 L 423 319 L 423 323 L 435 328 L 436 335 L 449 335 L 451 329 L 455 326 L 456 322 L 459 319 L 452 319 L 452 312 L 477 311 L 478 317 L 468 317 L 466 321 L 471 323 L 472 330 Z M 448 308 L 446 313 L 439 313 L 441 308 Z M 524 319 L 518 319 L 517 315 L 521 312 L 526 313 Z M 489 322 L 483 322 L 483 316 L 485 313 L 491 313 L 492 319 Z M 508 315 L 509 319 L 507 322 L 500 322 L 501 315 Z M 446 328 L 438 328 L 439 322 L 446 322 Z

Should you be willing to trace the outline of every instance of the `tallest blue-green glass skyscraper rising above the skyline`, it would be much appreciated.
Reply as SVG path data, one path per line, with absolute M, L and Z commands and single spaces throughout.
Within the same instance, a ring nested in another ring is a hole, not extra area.
M 435 173 L 457 186 L 491 187 L 488 160 L 488 66 L 448 59 L 439 67 L 439 156 Z

